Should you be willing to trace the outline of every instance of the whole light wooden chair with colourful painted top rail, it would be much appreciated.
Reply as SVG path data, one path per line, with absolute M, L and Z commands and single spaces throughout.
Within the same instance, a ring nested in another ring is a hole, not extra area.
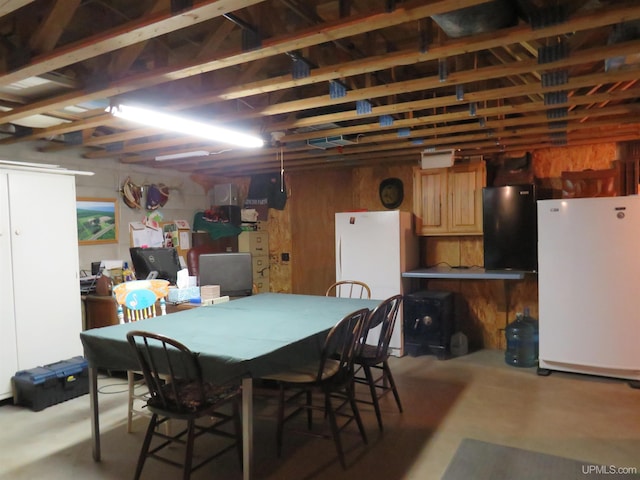
M 137 322 L 146 318 L 157 316 L 157 306 L 160 304 L 161 315 L 167 314 L 166 296 L 169 295 L 169 282 L 167 280 L 134 280 L 121 283 L 113 288 L 113 295 L 118 304 L 118 319 L 120 323 Z M 136 380 L 140 372 L 127 372 L 127 384 L 129 390 L 129 403 L 127 406 L 127 432 L 133 431 L 134 415 L 149 414 L 140 408 L 136 408 L 137 402 L 147 401 L 147 391 L 144 379 Z M 144 393 L 136 393 L 143 390 Z

